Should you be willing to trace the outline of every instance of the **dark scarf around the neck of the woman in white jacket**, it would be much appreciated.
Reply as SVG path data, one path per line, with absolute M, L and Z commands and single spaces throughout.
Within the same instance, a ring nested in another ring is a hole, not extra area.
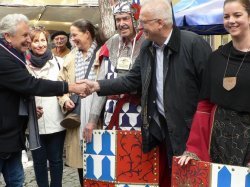
M 36 56 L 32 51 L 26 54 L 26 58 L 31 62 L 34 67 L 42 68 L 46 62 L 53 58 L 52 52 L 50 50 L 46 50 L 45 53 L 41 56 Z

